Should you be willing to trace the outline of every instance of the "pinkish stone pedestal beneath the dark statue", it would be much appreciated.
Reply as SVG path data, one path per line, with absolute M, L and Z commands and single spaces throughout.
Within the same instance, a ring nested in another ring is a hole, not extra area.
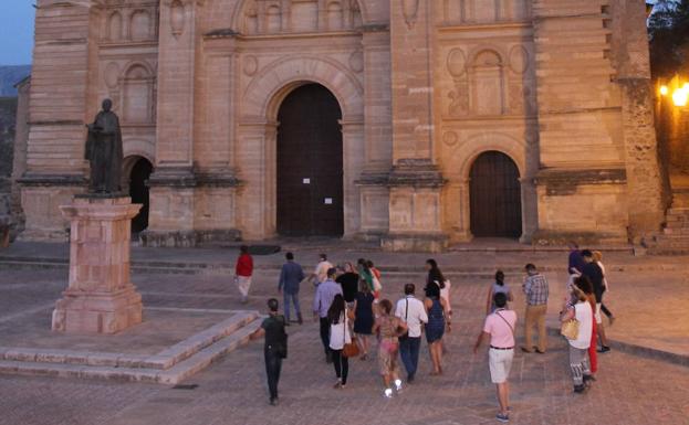
M 132 219 L 140 208 L 100 195 L 60 206 L 71 221 L 70 285 L 53 311 L 54 331 L 116 333 L 142 322 L 142 296 L 129 280 Z

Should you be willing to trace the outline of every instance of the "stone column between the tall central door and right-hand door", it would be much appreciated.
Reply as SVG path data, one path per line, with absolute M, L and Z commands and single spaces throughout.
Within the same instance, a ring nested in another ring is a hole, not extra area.
M 385 249 L 446 247 L 440 192 L 445 184 L 434 152 L 431 1 L 390 2 L 393 170 L 388 179 L 389 233 Z

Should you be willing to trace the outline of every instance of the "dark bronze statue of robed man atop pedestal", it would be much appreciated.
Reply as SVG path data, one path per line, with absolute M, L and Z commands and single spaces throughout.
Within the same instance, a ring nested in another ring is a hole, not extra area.
M 113 102 L 103 100 L 101 110 L 93 124 L 86 125 L 85 159 L 91 164 L 88 191 L 92 193 L 116 194 L 121 191 L 122 180 L 122 131 L 119 118 L 111 109 Z

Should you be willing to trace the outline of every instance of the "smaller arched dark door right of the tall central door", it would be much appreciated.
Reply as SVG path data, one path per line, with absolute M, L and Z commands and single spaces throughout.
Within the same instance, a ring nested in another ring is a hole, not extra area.
M 522 202 L 519 169 L 498 151 L 481 153 L 471 166 L 471 233 L 476 237 L 520 237 Z

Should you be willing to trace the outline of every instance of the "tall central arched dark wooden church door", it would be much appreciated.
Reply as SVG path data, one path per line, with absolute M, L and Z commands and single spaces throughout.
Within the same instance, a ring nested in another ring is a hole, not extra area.
M 342 236 L 342 111 L 320 84 L 290 93 L 278 113 L 278 233 Z

